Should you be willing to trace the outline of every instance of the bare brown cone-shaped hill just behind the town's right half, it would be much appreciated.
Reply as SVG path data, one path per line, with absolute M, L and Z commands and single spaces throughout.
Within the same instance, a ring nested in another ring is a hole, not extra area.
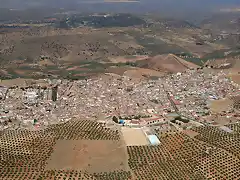
M 145 65 L 149 69 L 165 72 L 183 72 L 188 68 L 197 68 L 198 66 L 185 61 L 173 54 L 157 55 L 147 61 Z

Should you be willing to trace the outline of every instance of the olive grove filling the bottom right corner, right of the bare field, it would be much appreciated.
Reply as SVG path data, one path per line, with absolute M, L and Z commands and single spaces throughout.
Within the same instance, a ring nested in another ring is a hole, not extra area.
M 240 172 L 236 156 L 182 133 L 161 138 L 160 146 L 129 146 L 128 153 L 137 179 L 237 179 Z

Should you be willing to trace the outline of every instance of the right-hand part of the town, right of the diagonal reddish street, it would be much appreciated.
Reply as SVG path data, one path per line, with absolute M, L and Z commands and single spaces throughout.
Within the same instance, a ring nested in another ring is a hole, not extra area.
M 239 95 L 238 87 L 221 71 L 188 71 L 167 77 L 166 81 L 178 110 L 193 119 L 209 115 L 212 100 Z

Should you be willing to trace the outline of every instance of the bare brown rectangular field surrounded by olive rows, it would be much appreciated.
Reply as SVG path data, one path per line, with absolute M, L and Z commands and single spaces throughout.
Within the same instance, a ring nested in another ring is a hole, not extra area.
M 59 140 L 46 169 L 90 173 L 129 170 L 124 146 L 119 141 L 109 140 Z

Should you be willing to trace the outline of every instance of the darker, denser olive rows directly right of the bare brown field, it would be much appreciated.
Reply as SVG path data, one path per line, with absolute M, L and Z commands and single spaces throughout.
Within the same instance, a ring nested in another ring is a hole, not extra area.
M 175 140 L 177 145 L 179 136 L 170 138 L 171 141 Z M 163 140 L 161 142 L 164 143 Z M 137 179 L 204 179 L 204 176 L 196 171 L 196 165 L 190 163 L 186 152 L 168 150 L 163 145 L 128 147 L 129 166 Z

